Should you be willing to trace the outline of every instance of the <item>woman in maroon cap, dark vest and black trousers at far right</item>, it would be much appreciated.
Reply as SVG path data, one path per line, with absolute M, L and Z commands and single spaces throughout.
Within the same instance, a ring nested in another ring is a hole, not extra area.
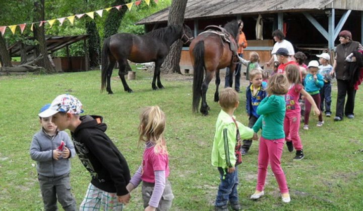
M 346 57 L 355 50 L 363 50 L 360 43 L 356 41 L 352 41 L 351 33 L 347 30 L 341 31 L 339 33 L 339 41 L 340 44 L 336 47 L 335 50 L 335 60 L 333 64 L 333 70 L 331 74 L 335 73 L 335 77 L 337 79 L 338 84 L 338 95 L 337 95 L 337 103 L 336 103 L 336 113 L 334 117 L 334 121 L 343 120 L 344 115 L 348 119 L 354 119 L 354 98 L 355 98 L 355 89 L 354 86 L 351 85 L 352 76 L 349 71 L 349 62 L 345 59 Z M 355 61 L 355 59 L 353 59 Z M 345 104 L 345 96 L 347 97 L 347 101 Z

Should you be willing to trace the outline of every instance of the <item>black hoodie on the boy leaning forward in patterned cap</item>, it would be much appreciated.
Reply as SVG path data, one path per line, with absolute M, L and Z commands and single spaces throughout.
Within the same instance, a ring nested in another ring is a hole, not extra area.
M 91 183 L 106 192 L 126 195 L 130 170 L 125 157 L 104 133 L 100 116 L 81 116 L 82 123 L 72 133 L 79 159 L 91 173 Z

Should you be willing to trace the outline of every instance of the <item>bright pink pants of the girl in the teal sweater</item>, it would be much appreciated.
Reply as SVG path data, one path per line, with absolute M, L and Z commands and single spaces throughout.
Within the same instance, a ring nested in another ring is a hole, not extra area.
M 284 138 L 276 140 L 267 140 L 263 137 L 260 138 L 260 149 L 258 158 L 259 169 L 256 190 L 264 190 L 267 176 L 267 167 L 270 161 L 271 170 L 276 177 L 281 194 L 288 193 L 285 174 L 280 166 L 283 145 Z

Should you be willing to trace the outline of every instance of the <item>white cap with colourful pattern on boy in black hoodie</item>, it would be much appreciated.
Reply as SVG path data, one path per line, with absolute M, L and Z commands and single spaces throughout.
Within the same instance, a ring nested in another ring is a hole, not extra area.
M 41 118 L 53 116 L 58 112 L 70 113 L 74 115 L 79 115 L 83 113 L 81 101 L 79 101 L 77 97 L 70 94 L 58 95 L 57 97 L 55 97 L 55 99 L 52 101 L 48 108 L 46 108 L 46 105 L 44 105 L 43 108 L 38 114 Z

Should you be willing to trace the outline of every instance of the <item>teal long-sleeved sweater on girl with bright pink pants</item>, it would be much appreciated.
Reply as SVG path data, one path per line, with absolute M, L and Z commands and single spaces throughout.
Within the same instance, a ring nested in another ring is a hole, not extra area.
M 262 129 L 262 137 L 268 140 L 285 138 L 283 130 L 285 111 L 284 96 L 271 95 L 264 98 L 257 108 L 257 114 L 261 116 L 252 129 L 256 133 Z

